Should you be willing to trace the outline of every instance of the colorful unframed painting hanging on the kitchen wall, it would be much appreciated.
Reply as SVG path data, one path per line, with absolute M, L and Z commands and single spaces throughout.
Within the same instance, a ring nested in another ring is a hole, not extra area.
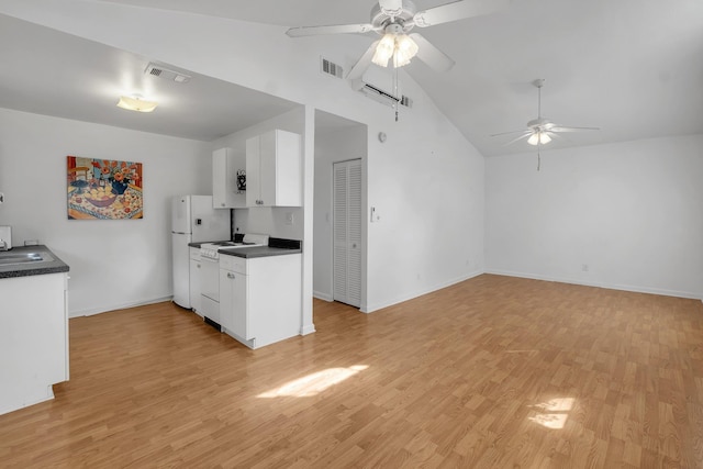
M 69 220 L 125 220 L 144 216 L 142 164 L 68 156 Z

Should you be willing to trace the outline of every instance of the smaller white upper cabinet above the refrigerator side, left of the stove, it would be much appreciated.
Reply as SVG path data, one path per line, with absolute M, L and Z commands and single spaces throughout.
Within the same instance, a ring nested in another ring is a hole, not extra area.
M 246 206 L 246 190 L 237 185 L 238 174 L 244 174 L 246 158 L 232 148 L 212 153 L 212 206 L 215 209 L 242 209 Z M 245 186 L 246 188 L 246 186 Z

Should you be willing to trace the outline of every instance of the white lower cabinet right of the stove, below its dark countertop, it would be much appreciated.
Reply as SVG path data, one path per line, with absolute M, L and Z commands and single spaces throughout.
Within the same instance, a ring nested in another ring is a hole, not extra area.
M 244 258 L 220 256 L 223 332 L 249 348 L 300 334 L 301 254 Z

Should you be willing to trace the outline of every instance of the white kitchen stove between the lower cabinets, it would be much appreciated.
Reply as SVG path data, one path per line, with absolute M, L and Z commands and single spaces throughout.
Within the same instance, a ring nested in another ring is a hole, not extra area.
M 241 243 L 233 241 L 204 243 L 200 246 L 200 308 L 205 322 L 220 330 L 220 249 L 268 246 L 268 235 L 245 234 Z

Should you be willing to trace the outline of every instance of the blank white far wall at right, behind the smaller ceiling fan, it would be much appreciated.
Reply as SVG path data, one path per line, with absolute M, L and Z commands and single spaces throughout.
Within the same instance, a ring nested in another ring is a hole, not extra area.
M 487 270 L 703 298 L 703 135 L 491 157 Z M 583 270 L 588 266 L 588 271 Z

